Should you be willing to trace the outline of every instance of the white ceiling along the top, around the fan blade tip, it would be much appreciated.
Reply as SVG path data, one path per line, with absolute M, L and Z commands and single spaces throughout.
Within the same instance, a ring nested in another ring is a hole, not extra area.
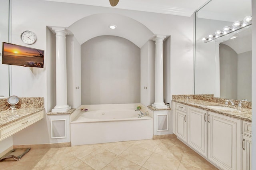
M 92 6 L 103 6 L 126 10 L 155 12 L 179 16 L 191 16 L 200 6 L 208 0 L 119 0 L 117 6 L 112 7 L 109 0 L 46 0 L 66 2 Z

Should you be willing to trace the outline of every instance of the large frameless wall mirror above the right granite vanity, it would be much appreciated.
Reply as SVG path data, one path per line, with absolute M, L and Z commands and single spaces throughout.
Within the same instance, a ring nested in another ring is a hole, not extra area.
M 252 100 L 251 22 L 223 34 L 225 26 L 233 29 L 234 22 L 243 24 L 246 16 L 252 16 L 251 4 L 251 0 L 210 0 L 195 12 L 195 94 Z M 222 33 L 214 39 L 218 30 Z

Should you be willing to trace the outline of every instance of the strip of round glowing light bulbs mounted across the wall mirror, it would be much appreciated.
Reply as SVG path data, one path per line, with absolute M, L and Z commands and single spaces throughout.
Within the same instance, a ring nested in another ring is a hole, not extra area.
M 217 38 L 220 38 L 222 36 L 225 36 L 227 34 L 230 34 L 232 32 L 236 32 L 238 30 L 241 30 L 242 28 L 246 28 L 248 26 L 252 25 L 252 17 L 246 16 L 244 20 L 238 22 L 235 21 L 232 26 L 224 26 L 223 30 L 217 30 L 215 33 L 209 34 L 208 36 L 202 38 L 204 43 L 210 42 L 212 40 L 215 40 Z

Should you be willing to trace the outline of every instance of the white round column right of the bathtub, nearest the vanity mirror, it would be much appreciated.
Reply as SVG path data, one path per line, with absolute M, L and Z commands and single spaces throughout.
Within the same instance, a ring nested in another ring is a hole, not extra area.
M 155 61 L 155 108 L 167 108 L 164 104 L 164 65 L 163 65 L 163 41 L 166 36 L 156 36 L 156 61 Z

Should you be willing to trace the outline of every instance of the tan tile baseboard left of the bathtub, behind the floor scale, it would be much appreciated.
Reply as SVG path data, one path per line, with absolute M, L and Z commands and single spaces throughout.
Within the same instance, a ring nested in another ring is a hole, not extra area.
M 28 144 L 28 145 L 14 145 L 13 148 L 32 148 L 32 149 L 48 149 L 48 148 L 63 148 L 70 147 L 71 142 L 64 143 L 49 143 L 49 144 Z

